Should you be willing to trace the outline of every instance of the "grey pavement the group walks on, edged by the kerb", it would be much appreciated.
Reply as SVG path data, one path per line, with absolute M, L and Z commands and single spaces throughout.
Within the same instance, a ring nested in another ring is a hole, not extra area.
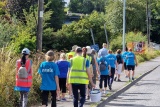
M 121 82 L 114 81 L 112 85 L 112 90 L 108 89 L 106 95 L 102 95 L 102 100 L 98 103 L 92 103 L 90 100 L 86 100 L 84 107 L 104 107 L 106 103 L 111 101 L 111 99 L 116 98 L 122 92 L 134 85 L 140 78 L 142 78 L 147 73 L 151 72 L 153 69 L 160 65 L 160 57 L 152 59 L 150 61 L 143 62 L 139 64 L 135 69 L 135 81 L 128 82 L 128 78 L 125 78 L 124 73 L 121 74 Z M 97 81 L 96 87 L 99 87 Z M 69 99 L 66 95 L 67 101 L 57 101 L 57 107 L 73 107 L 73 99 Z M 41 106 L 32 106 L 32 107 L 41 107 Z M 50 103 L 48 107 L 51 107 Z

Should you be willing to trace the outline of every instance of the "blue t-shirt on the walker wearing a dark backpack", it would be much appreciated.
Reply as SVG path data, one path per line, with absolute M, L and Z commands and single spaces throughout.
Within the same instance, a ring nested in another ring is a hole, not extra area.
M 106 64 L 106 69 L 104 71 L 100 71 L 101 75 L 109 75 L 109 70 L 108 70 L 108 66 L 110 65 L 109 64 L 109 60 L 107 59 L 107 57 L 100 57 L 98 58 L 98 64 L 101 63 L 101 61 L 105 61 L 105 64 Z

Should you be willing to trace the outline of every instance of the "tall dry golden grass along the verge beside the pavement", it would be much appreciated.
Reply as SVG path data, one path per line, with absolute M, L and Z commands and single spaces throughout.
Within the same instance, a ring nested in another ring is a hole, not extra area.
M 55 52 L 55 60 L 59 58 L 58 52 Z M 144 54 L 137 55 L 138 62 L 143 62 L 160 55 L 159 51 L 149 50 Z M 21 55 L 14 54 L 12 50 L 6 48 L 0 49 L 0 106 L 16 107 L 19 100 L 19 93 L 14 91 L 16 60 Z M 37 73 L 38 67 L 44 61 L 44 53 L 32 53 L 30 59 L 33 61 L 33 85 L 29 93 L 29 105 L 40 102 L 40 82 L 41 78 Z

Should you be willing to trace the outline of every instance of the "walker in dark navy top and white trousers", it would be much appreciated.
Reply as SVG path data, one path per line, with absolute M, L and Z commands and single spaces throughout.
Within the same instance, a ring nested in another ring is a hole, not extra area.
M 115 81 L 116 80 L 117 81 L 121 81 L 120 76 L 121 76 L 121 73 L 122 73 L 123 58 L 122 58 L 121 50 L 120 49 L 117 50 L 116 58 L 117 58 L 117 64 L 118 64 L 118 66 L 117 66 L 117 69 L 116 69 L 116 77 L 114 78 L 114 80 Z

